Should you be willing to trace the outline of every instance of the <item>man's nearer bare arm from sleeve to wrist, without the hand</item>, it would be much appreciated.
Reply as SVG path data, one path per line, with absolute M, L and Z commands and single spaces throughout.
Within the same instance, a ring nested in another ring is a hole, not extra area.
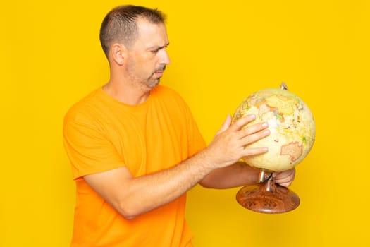
M 126 167 L 84 178 L 123 217 L 131 219 L 189 191 L 211 171 L 204 160 L 204 154 L 199 153 L 175 167 L 137 178 Z

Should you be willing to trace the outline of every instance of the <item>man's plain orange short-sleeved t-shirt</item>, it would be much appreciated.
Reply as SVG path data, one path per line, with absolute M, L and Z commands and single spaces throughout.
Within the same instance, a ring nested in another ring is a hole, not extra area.
M 204 139 L 178 93 L 158 85 L 144 103 L 131 106 L 99 88 L 68 111 L 63 138 L 77 191 L 71 246 L 192 246 L 185 194 L 128 220 L 83 179 L 118 167 L 142 176 L 202 150 Z

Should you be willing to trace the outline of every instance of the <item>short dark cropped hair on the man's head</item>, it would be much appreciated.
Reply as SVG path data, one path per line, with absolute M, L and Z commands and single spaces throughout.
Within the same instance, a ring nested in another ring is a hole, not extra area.
M 128 49 L 132 47 L 137 38 L 137 18 L 144 18 L 155 24 L 166 20 L 164 13 L 158 9 L 135 5 L 113 8 L 106 14 L 100 28 L 100 43 L 106 57 L 115 42 L 121 42 Z

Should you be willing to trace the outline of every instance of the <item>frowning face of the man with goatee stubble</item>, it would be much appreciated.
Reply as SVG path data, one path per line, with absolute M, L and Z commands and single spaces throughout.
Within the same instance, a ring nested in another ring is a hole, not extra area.
M 127 72 L 132 83 L 154 88 L 170 59 L 166 52 L 168 37 L 163 23 L 153 24 L 137 20 L 139 35 L 129 51 Z

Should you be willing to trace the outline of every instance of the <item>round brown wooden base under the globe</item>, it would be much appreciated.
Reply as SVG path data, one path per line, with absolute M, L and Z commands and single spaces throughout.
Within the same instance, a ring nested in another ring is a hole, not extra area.
M 264 183 L 241 188 L 236 200 L 249 210 L 267 214 L 289 212 L 300 205 L 298 195 L 274 183 L 272 176 Z

